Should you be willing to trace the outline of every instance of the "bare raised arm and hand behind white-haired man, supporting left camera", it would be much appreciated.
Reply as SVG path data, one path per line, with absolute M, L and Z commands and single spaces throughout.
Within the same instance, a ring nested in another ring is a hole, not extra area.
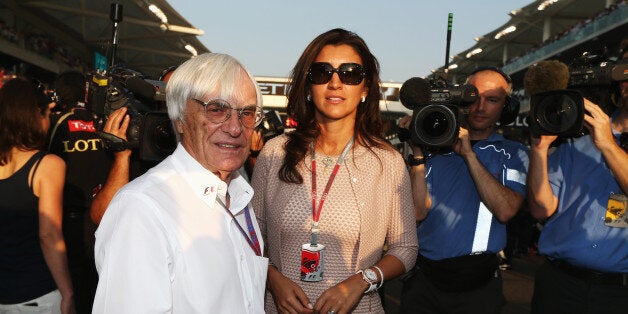
M 126 140 L 126 130 L 130 120 L 131 118 L 126 115 L 126 107 L 122 107 L 109 115 L 103 131 Z M 107 181 L 92 200 L 89 211 L 89 216 L 96 225 L 100 224 L 100 220 L 116 192 L 129 182 L 130 168 L 131 150 L 114 153 L 114 161 L 109 170 Z

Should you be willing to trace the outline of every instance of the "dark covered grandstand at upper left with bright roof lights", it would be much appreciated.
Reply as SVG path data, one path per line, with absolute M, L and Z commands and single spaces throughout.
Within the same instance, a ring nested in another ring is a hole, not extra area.
M 118 0 L 116 64 L 147 77 L 209 51 L 192 26 L 165 0 Z M 0 67 L 49 80 L 64 70 L 87 72 L 111 56 L 110 1 L 3 0 Z M 161 14 L 159 12 L 162 12 Z

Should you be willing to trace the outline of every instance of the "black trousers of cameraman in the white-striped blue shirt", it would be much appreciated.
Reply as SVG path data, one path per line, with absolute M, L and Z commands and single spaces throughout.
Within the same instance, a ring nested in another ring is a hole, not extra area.
M 416 269 L 404 281 L 401 292 L 401 313 L 500 313 L 504 304 L 499 270 L 497 276 L 482 287 L 448 292 L 438 289 L 421 270 Z

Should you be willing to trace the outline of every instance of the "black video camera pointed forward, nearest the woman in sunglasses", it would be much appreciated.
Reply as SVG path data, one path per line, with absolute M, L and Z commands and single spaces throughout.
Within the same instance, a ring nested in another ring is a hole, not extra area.
M 478 90 L 473 85 L 446 86 L 414 77 L 403 83 L 399 98 L 412 109 L 412 143 L 445 147 L 458 139 L 464 109 L 477 100 Z

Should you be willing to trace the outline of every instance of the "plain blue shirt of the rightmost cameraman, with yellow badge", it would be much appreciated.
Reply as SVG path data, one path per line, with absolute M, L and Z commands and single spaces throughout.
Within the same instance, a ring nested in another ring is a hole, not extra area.
M 628 228 L 604 224 L 609 196 L 622 192 L 591 136 L 560 145 L 548 175 L 558 209 L 543 227 L 539 251 L 580 267 L 628 272 Z

